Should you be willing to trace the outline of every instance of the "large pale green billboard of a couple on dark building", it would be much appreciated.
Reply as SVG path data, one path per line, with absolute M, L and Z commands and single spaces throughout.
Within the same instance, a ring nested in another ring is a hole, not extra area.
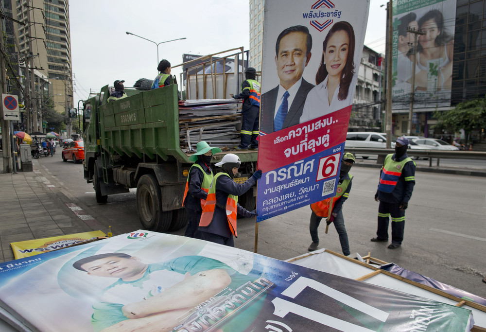
M 393 109 L 409 109 L 412 84 L 414 109 L 451 104 L 455 12 L 456 0 L 393 2 Z

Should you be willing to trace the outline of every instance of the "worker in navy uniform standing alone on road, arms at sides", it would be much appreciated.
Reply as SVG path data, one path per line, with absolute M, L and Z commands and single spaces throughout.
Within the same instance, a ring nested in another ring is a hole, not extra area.
M 392 243 L 395 249 L 403 241 L 405 210 L 415 185 L 415 161 L 407 155 L 408 139 L 400 137 L 395 142 L 395 153 L 387 155 L 380 172 L 380 183 L 375 194 L 378 207 L 378 230 L 372 242 L 388 241 L 388 222 L 392 218 Z

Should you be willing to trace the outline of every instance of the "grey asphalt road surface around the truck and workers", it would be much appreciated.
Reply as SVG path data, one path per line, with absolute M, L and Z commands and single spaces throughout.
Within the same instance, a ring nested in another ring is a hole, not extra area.
M 60 154 L 42 157 L 40 170 L 73 202 L 79 204 L 115 234 L 142 228 L 139 223 L 135 191 L 108 197 L 108 203 L 96 203 L 92 184 L 83 179 L 81 164 L 62 162 Z M 358 252 L 385 262 L 395 262 L 425 276 L 486 297 L 486 178 L 417 172 L 417 185 L 406 213 L 402 247 L 386 248 L 372 243 L 375 236 L 378 203 L 373 199 L 378 170 L 354 167 L 355 176 L 349 199 L 344 206 L 351 253 Z M 311 243 L 308 207 L 290 211 L 259 223 L 258 252 L 277 259 L 288 259 L 307 252 Z M 341 252 L 336 230 L 324 234 L 321 247 Z M 253 251 L 255 223 L 241 219 L 237 247 Z M 183 230 L 174 232 L 183 234 Z

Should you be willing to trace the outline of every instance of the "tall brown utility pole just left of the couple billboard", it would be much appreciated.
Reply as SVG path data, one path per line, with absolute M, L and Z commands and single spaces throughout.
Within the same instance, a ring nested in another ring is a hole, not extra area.
M 386 109 L 385 109 L 385 133 L 386 133 L 386 148 L 392 147 L 392 47 L 393 47 L 393 5 L 392 0 L 388 1 L 387 5 L 387 30 L 386 36 Z

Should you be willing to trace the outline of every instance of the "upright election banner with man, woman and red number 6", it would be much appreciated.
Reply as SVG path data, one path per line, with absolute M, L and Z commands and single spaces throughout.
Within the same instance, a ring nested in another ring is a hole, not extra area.
M 257 221 L 333 196 L 369 0 L 267 0 Z

